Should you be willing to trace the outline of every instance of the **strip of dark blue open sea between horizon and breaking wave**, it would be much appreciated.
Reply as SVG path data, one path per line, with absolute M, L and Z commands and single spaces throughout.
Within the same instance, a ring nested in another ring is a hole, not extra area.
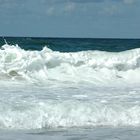
M 99 50 L 121 52 L 140 47 L 140 39 L 93 39 L 93 38 L 31 38 L 31 37 L 0 37 L 0 46 L 4 39 L 11 45 L 18 44 L 25 50 L 42 50 L 47 45 L 53 51 L 78 52 Z

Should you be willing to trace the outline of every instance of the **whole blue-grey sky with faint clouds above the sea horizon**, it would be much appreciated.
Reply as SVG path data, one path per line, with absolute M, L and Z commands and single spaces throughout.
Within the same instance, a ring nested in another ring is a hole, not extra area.
M 140 0 L 0 0 L 0 36 L 140 38 Z

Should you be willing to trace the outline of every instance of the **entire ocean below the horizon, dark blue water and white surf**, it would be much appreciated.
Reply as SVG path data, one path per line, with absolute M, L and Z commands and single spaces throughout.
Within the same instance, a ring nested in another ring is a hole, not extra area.
M 140 39 L 0 38 L 1 140 L 139 140 Z

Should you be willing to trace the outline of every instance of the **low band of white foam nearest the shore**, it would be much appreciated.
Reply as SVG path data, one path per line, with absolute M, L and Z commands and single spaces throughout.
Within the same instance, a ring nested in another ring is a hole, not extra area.
M 1 129 L 140 126 L 140 107 L 72 101 L 0 107 Z

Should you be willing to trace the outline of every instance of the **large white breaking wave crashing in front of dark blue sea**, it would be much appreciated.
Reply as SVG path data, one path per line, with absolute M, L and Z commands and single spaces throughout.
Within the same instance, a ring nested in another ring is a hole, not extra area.
M 110 83 L 140 83 L 140 49 L 119 53 L 80 51 L 62 53 L 45 46 L 25 51 L 18 45 L 0 49 L 0 79 L 45 83 L 48 80 Z

